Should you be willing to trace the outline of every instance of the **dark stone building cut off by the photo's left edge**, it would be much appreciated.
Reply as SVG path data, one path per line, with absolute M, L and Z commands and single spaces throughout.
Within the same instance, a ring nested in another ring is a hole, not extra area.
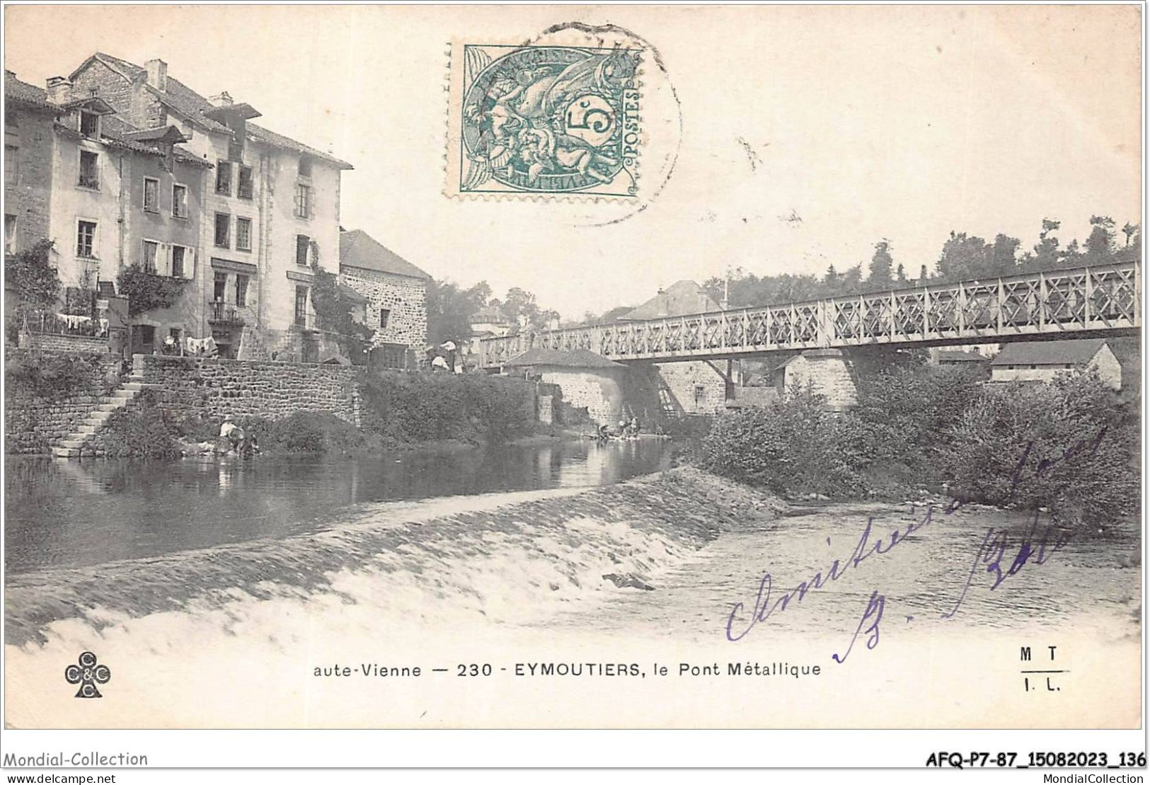
M 3 75 L 5 252 L 22 251 L 48 236 L 53 125 L 60 108 L 45 90 Z

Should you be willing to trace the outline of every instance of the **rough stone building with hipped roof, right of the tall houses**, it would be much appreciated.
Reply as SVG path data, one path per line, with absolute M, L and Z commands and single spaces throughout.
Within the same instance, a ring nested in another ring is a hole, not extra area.
M 370 364 L 414 367 L 428 340 L 431 276 L 360 229 L 339 235 L 339 276 L 366 298 L 363 323 L 375 330 Z

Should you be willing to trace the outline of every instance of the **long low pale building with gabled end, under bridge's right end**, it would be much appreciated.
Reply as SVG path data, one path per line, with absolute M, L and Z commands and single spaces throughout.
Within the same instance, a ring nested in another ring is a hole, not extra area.
M 1112 389 L 1122 388 L 1122 366 L 1101 338 L 1007 343 L 990 361 L 990 381 L 1049 382 L 1076 366 L 1097 369 Z

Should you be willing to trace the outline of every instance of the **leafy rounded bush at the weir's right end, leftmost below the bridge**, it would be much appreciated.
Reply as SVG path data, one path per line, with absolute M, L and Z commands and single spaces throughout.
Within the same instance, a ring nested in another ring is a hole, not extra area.
M 767 409 L 719 417 L 699 447 L 700 465 L 777 494 L 849 497 L 866 493 L 856 424 L 825 409 L 826 398 L 792 388 Z

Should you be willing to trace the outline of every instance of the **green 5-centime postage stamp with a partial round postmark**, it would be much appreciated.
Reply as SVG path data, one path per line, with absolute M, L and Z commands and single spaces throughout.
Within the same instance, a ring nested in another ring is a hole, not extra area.
M 447 192 L 635 198 L 636 48 L 452 47 Z

